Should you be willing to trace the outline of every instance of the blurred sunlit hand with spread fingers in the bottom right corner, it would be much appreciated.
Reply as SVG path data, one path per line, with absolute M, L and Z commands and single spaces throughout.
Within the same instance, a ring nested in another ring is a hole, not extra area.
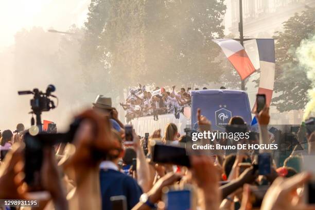
M 287 179 L 278 177 L 267 190 L 260 209 L 315 209 L 315 205 L 307 205 L 299 202 L 294 203 L 297 196 L 294 191 L 296 191 L 296 188 L 310 180 L 310 177 L 309 173 L 298 173 Z

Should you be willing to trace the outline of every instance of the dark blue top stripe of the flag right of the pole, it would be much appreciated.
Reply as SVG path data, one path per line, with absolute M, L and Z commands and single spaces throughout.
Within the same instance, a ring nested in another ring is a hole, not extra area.
M 275 63 L 274 39 L 256 39 L 259 60 Z

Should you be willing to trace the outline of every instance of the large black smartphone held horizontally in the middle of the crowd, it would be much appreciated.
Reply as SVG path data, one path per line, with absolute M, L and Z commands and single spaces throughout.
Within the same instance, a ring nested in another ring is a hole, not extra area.
M 152 147 L 152 161 L 190 167 L 186 149 L 180 146 L 156 143 Z

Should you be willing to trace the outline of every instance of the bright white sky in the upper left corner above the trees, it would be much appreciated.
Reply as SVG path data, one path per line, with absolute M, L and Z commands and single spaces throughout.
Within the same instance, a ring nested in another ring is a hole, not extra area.
M 67 30 L 86 19 L 91 0 L 0 0 L 0 50 L 14 43 L 22 28 Z

